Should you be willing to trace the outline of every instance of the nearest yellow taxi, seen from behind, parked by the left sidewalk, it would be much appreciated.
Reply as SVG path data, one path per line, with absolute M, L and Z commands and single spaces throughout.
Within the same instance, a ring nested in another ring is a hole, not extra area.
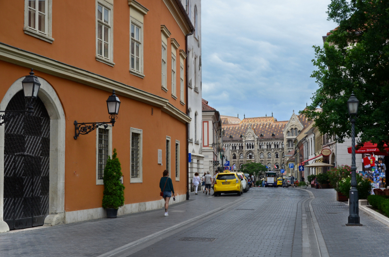
M 240 178 L 234 172 L 221 172 L 217 174 L 213 185 L 213 192 L 215 196 L 221 193 L 237 193 L 241 195 L 243 189 Z

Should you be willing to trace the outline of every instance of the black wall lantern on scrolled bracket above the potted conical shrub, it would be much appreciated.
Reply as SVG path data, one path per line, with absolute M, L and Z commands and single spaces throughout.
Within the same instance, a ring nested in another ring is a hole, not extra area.
M 74 121 L 74 139 L 77 139 L 80 135 L 86 135 L 89 132 L 92 132 L 96 128 L 100 126 L 104 126 L 104 128 L 108 127 L 108 124 L 112 124 L 114 126 L 115 120 L 117 119 L 117 115 L 119 113 L 120 100 L 119 97 L 115 95 L 115 90 L 112 90 L 112 95 L 108 97 L 106 100 L 106 107 L 108 109 L 109 118 L 111 119 L 109 122 L 93 122 L 93 123 L 78 123 L 76 120 Z

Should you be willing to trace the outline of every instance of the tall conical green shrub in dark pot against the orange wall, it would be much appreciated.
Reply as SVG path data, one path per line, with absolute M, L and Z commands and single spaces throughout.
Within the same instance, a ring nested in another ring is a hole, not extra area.
M 116 149 L 113 150 L 112 159 L 108 156 L 104 169 L 103 208 L 106 209 L 107 218 L 116 218 L 119 207 L 124 205 L 124 185 L 121 182 L 122 168 L 117 158 Z

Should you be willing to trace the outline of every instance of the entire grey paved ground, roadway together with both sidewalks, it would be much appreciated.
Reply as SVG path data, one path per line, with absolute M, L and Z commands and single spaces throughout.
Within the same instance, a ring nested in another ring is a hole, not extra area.
M 360 212 L 363 226 L 349 227 L 347 217 L 348 206 L 336 201 L 333 189 L 252 188 L 221 197 L 200 192 L 172 205 L 168 217 L 155 210 L 4 233 L 0 256 L 300 257 L 319 256 L 319 249 L 323 257 L 388 256 L 387 226 Z M 173 225 L 179 226 L 169 230 Z

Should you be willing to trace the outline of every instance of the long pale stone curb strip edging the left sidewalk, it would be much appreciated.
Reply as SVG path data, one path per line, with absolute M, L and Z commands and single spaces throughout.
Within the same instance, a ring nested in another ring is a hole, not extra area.
M 156 237 L 158 237 L 158 236 L 160 236 L 160 235 L 162 235 L 162 234 L 164 234 L 164 233 L 166 233 L 166 232 L 169 232 L 169 231 L 171 231 L 171 230 L 177 229 L 177 228 L 179 228 L 179 227 L 181 227 L 181 226 L 190 224 L 190 223 L 192 223 L 193 221 L 198 220 L 198 219 L 201 219 L 201 218 L 203 218 L 203 217 L 206 217 L 206 216 L 208 216 L 208 215 L 210 215 L 210 214 L 214 214 L 215 212 L 217 212 L 217 211 L 219 211 L 219 210 L 225 209 L 227 206 L 232 206 L 232 205 L 234 205 L 234 204 L 236 204 L 236 203 L 238 203 L 238 202 L 240 202 L 240 201 L 243 201 L 243 200 L 247 200 L 247 199 L 246 199 L 246 198 L 237 199 L 237 200 L 235 200 L 235 201 L 233 201 L 233 202 L 231 202 L 231 203 L 228 203 L 228 204 L 226 204 L 226 205 L 223 205 L 222 207 L 219 207 L 219 208 L 217 208 L 217 209 L 211 210 L 211 211 L 209 211 L 209 212 L 207 212 L 207 213 L 201 214 L 201 215 L 199 215 L 199 216 L 197 216 L 197 217 L 194 217 L 194 218 L 191 218 L 191 219 L 189 219 L 189 220 L 183 221 L 183 222 L 178 223 L 177 225 L 171 226 L 171 227 L 169 227 L 169 228 L 160 230 L 160 231 L 158 231 L 158 232 L 156 232 L 156 233 L 154 233 L 154 234 L 151 234 L 151 235 L 148 235 L 148 236 L 146 236 L 146 237 L 144 237 L 144 238 L 138 239 L 137 241 L 133 241 L 133 242 L 130 242 L 130 243 L 128 243 L 128 244 L 125 244 L 125 245 L 123 245 L 123 246 L 121 246 L 121 247 L 119 247 L 119 248 L 116 248 L 116 249 L 114 249 L 114 250 L 112 250 L 112 251 L 109 251 L 109 252 L 107 252 L 107 253 L 105 253 L 105 254 L 102 254 L 102 255 L 100 255 L 100 256 L 98 256 L 98 257 L 110 257 L 110 256 L 113 256 L 113 255 L 119 254 L 120 252 L 123 252 L 123 251 L 125 251 L 125 250 L 127 250 L 127 249 L 129 249 L 129 248 L 131 248 L 131 247 L 137 246 L 137 245 L 139 245 L 139 244 L 141 244 L 141 243 L 143 243 L 143 242 L 145 242 L 145 241 L 154 239 L 154 238 L 156 238 Z

